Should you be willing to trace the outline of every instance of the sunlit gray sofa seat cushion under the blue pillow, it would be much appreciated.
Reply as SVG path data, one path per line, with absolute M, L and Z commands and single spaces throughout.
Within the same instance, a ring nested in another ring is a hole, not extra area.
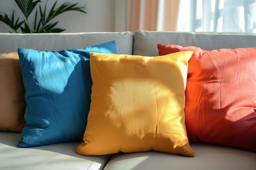
M 102 170 L 112 157 L 77 155 L 81 141 L 16 148 L 20 137 L 20 133 L 0 132 L 1 170 Z

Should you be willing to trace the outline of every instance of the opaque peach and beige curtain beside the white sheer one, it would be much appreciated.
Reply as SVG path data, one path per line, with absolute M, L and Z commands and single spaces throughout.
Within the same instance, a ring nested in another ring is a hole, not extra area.
M 175 31 L 179 0 L 115 0 L 115 31 Z

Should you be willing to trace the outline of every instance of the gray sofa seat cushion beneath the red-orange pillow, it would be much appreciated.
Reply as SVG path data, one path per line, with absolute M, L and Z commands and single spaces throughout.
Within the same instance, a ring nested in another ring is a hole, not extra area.
M 254 170 L 256 153 L 227 146 L 191 144 L 195 157 L 164 152 L 115 154 L 104 170 Z

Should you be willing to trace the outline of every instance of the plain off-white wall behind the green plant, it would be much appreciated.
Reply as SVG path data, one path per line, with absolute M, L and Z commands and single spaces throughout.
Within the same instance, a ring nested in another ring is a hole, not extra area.
M 42 7 L 45 6 L 47 0 L 42 0 Z M 47 9 L 49 10 L 55 0 L 47 1 Z M 79 6 L 85 6 L 87 14 L 79 11 L 67 11 L 54 18 L 58 21 L 56 27 L 66 29 L 64 32 L 113 32 L 115 30 L 115 0 L 57 0 L 56 7 L 64 2 L 79 3 Z M 12 10 L 15 11 L 17 19 L 20 16 L 20 21 L 23 20 L 23 15 L 18 9 L 14 0 L 0 0 L 0 12 L 7 13 L 11 16 Z M 30 25 L 33 26 L 33 14 L 29 18 Z M 9 26 L 0 21 L 0 33 L 8 33 L 12 31 Z

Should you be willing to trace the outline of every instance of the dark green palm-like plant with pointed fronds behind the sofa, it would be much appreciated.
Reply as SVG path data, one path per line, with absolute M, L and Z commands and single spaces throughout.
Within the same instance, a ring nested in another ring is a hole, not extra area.
M 64 13 L 66 11 L 80 11 L 83 13 L 86 13 L 84 11 L 83 6 L 78 7 L 78 3 L 68 3 L 65 2 L 61 4 L 60 7 L 56 8 L 56 2 L 54 2 L 52 8 L 50 9 L 49 13 L 46 14 L 46 7 L 47 2 L 45 4 L 45 7 L 42 8 L 40 5 L 40 0 L 15 0 L 16 4 L 18 5 L 19 9 L 22 11 L 22 14 L 25 17 L 25 20 L 20 21 L 20 17 L 18 17 L 16 20 L 14 19 L 14 11 L 12 12 L 11 17 L 9 17 L 6 13 L 0 12 L 0 21 L 4 22 L 5 24 L 9 25 L 11 29 L 13 29 L 14 33 L 18 33 L 18 29 L 21 30 L 22 33 L 59 33 L 62 31 L 65 31 L 65 29 L 61 28 L 55 28 L 56 22 L 51 22 L 53 18 L 60 15 L 61 13 Z M 36 8 L 39 4 L 39 11 Z M 34 26 L 33 28 L 29 25 L 28 18 L 32 11 L 36 9 L 36 14 L 34 15 Z M 38 20 L 39 15 L 39 20 Z M 11 31 L 9 31 L 11 33 Z

